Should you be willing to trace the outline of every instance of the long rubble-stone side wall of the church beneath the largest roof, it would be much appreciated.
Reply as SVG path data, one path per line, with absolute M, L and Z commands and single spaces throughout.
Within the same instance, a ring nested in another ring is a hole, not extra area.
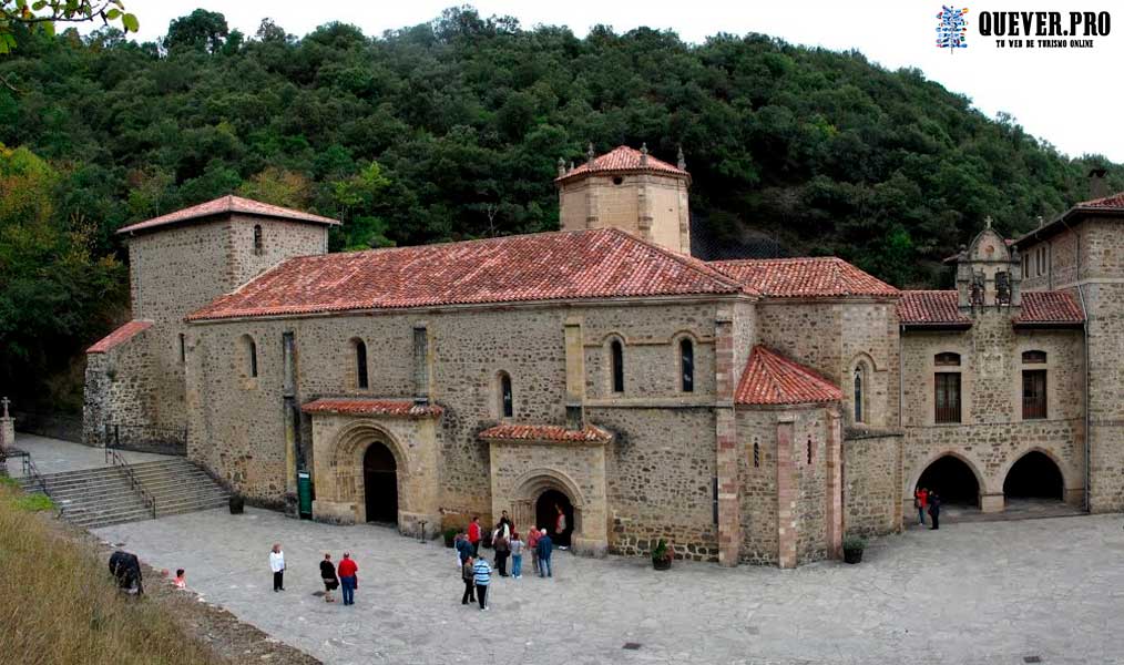
M 728 307 L 728 306 L 727 306 Z M 513 422 L 565 422 L 566 320 L 580 320 L 587 371 L 586 418 L 617 435 L 606 453 L 609 547 L 645 552 L 653 537 L 680 556 L 713 558 L 715 302 L 451 308 L 191 326 L 190 455 L 236 489 L 280 501 L 285 485 L 281 336 L 293 332 L 296 392 L 318 397 L 413 397 L 413 329 L 425 326 L 433 354 L 433 400 L 441 419 L 439 512 L 450 523 L 493 519 L 489 445 L 478 434 L 500 420 L 497 375 L 511 377 Z M 611 394 L 601 340 L 625 340 L 625 392 Z M 242 336 L 257 347 L 259 376 L 246 375 Z M 678 340 L 696 341 L 695 391 L 679 382 Z M 368 346 L 370 388 L 354 382 L 354 346 Z M 517 343 L 514 343 L 517 340 Z M 306 440 L 307 440 L 306 426 Z M 308 448 L 307 443 L 305 448 Z M 314 461 L 318 450 L 306 453 Z

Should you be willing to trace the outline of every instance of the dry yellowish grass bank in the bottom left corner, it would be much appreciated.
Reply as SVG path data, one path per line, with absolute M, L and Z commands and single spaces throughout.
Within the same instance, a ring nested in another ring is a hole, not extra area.
M 0 483 L 0 663 L 219 664 L 167 609 L 121 595 L 106 561 Z M 162 581 L 145 579 L 146 585 Z

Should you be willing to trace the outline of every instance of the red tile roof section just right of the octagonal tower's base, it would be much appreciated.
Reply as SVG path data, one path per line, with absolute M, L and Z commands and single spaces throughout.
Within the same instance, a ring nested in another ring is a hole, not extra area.
M 834 256 L 711 261 L 709 265 L 773 298 L 897 295 L 899 291 Z

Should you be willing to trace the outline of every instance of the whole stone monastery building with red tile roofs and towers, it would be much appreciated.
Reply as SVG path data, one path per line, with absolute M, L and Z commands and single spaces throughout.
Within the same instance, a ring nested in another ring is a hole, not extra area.
M 133 320 L 89 349 L 85 436 L 187 428 L 233 490 L 436 535 L 570 518 L 579 553 L 782 567 L 916 519 L 915 486 L 1124 510 L 1124 194 L 954 291 L 832 257 L 691 256 L 690 175 L 618 147 L 561 231 L 327 253 L 336 220 L 226 197 L 120 230 Z M 424 527 L 423 527 L 424 522 Z

